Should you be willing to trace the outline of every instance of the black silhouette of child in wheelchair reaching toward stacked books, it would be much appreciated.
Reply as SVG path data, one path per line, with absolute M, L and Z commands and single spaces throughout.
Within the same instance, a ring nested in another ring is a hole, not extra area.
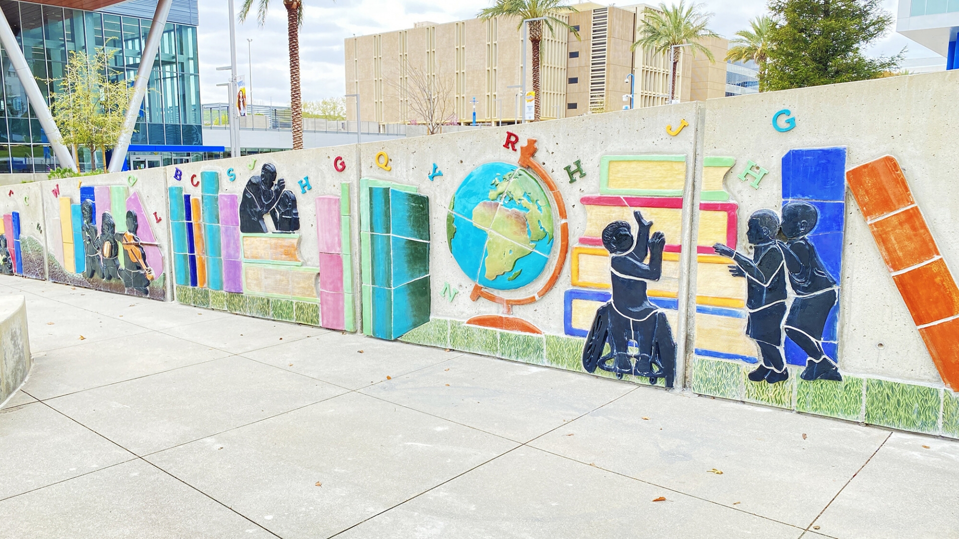
M 639 210 L 633 217 L 639 225 L 635 238 L 624 221 L 609 223 L 602 232 L 603 246 L 610 253 L 613 298 L 596 310 L 583 348 L 583 366 L 588 372 L 598 366 L 619 378 L 648 377 L 653 384 L 665 378 L 672 387 L 676 343 L 666 314 L 646 295 L 646 281 L 657 281 L 663 273 L 666 237 L 662 232 L 650 237 L 653 223 L 643 220 Z M 607 343 L 610 353 L 603 355 Z

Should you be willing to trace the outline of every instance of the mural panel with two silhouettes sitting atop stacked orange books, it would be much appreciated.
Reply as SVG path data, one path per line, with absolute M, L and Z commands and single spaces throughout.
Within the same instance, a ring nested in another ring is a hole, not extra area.
M 349 184 L 289 188 L 293 167 L 250 159 L 243 183 L 197 165 L 168 180 L 177 301 L 355 331 Z

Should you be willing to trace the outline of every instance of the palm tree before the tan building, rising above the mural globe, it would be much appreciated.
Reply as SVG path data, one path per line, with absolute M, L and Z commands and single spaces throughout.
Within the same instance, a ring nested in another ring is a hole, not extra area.
M 535 100 L 533 105 L 533 122 L 539 122 L 540 119 L 540 42 L 543 40 L 543 23 L 550 29 L 550 35 L 553 35 L 553 25 L 565 28 L 579 38 L 579 31 L 574 29 L 566 21 L 556 15 L 576 12 L 573 6 L 566 5 L 562 0 L 496 0 L 496 4 L 491 8 L 485 8 L 479 12 L 479 18 L 489 20 L 498 16 L 517 17 L 520 24 L 517 29 L 523 28 L 525 19 L 532 20 L 529 25 L 529 43 L 533 49 L 533 92 Z M 523 66 L 526 69 L 526 66 Z

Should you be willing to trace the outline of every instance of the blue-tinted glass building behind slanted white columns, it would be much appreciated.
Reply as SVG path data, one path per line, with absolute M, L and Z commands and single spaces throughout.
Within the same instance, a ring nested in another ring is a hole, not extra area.
M 115 51 L 104 66 L 107 75 L 132 83 L 155 8 L 155 3 L 152 7 L 147 4 L 140 10 L 135 5 L 122 10 L 141 16 L 86 12 L 13 0 L 0 0 L 0 9 L 49 104 L 73 51 L 91 56 L 100 47 Z M 192 0 L 192 4 L 196 7 L 196 0 Z M 28 105 L 6 51 L 0 51 L 0 61 L 0 173 L 49 172 L 58 164 L 46 134 L 40 129 L 33 107 Z M 131 146 L 201 145 L 196 24 L 168 22 L 152 63 L 147 95 L 140 107 Z M 85 148 L 78 149 L 78 158 L 81 170 L 92 168 L 91 155 Z M 103 155 L 97 157 L 97 165 L 104 166 Z

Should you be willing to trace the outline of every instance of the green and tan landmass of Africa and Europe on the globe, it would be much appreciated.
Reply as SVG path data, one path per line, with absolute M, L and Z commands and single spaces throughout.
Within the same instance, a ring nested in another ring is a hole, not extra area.
M 489 200 L 479 202 L 473 209 L 473 223 L 487 231 L 487 279 L 495 279 L 516 266 L 516 262 L 533 252 L 533 242 L 552 239 L 552 211 L 550 201 L 537 195 L 542 193 L 536 180 L 523 169 L 517 169 L 493 180 Z M 506 207 L 514 202 L 523 209 Z M 521 270 L 508 280 L 519 276 Z

